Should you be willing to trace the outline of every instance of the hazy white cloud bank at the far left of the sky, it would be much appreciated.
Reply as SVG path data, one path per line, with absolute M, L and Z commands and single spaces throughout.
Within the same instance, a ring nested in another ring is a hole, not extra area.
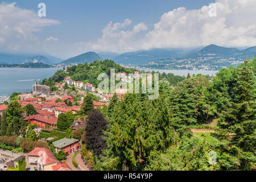
M 20 9 L 16 3 L 0 3 L 1 51 L 35 51 L 42 42 L 34 35 L 43 27 L 59 24 L 53 19 L 40 18 L 34 11 Z

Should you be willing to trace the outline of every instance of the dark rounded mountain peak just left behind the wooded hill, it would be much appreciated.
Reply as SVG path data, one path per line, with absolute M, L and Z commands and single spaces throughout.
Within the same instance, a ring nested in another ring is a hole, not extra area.
M 102 58 L 96 52 L 86 52 L 79 56 L 71 57 L 61 62 L 61 64 L 84 64 L 86 62 L 92 63 L 96 60 L 102 60 Z

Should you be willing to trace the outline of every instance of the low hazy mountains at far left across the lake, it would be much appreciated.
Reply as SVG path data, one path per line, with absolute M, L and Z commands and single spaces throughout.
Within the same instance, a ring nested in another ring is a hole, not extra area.
M 42 55 L 22 54 L 22 53 L 0 53 L 0 63 L 2 64 L 24 64 L 24 63 L 45 63 L 53 65 L 60 63 L 61 59 L 44 53 Z

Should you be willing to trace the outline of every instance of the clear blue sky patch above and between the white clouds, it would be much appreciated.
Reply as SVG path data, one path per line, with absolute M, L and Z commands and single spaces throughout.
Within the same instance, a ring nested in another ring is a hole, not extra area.
M 67 42 L 93 41 L 102 35 L 102 29 L 110 22 L 123 22 L 129 18 L 133 24 L 144 22 L 153 26 L 160 16 L 178 7 L 199 9 L 213 0 L 16 0 L 22 9 L 37 12 L 38 4 L 47 7 L 47 17 L 61 22 L 59 26 L 47 27 L 39 36 L 54 36 Z

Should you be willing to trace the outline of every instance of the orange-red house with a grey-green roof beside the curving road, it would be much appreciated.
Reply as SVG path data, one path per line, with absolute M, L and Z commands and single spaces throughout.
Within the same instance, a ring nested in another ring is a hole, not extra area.
M 69 139 L 63 138 L 52 142 L 53 146 L 55 147 L 55 152 L 59 152 L 60 150 L 64 150 L 68 155 L 74 153 L 77 150 L 81 149 L 80 143 L 78 139 Z

